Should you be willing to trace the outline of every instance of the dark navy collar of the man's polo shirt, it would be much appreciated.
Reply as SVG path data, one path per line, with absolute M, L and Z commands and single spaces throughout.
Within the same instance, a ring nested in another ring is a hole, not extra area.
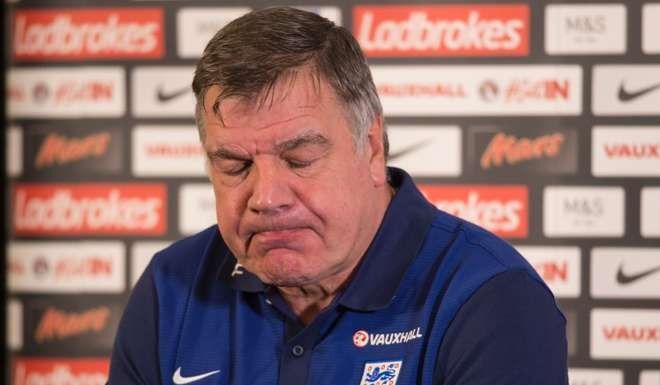
M 354 310 L 371 311 L 386 307 L 399 286 L 408 265 L 424 243 L 437 210 L 415 186 L 405 171 L 388 168 L 390 184 L 397 189 L 376 235 L 338 303 Z M 218 278 L 245 292 L 263 292 L 268 287 L 242 269 L 229 252 L 218 269 Z

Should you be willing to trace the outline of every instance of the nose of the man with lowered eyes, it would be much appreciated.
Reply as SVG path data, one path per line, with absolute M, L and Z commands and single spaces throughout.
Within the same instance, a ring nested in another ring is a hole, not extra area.
M 284 170 L 277 165 L 260 163 L 253 165 L 252 191 L 248 208 L 257 214 L 278 214 L 293 204 L 293 193 Z

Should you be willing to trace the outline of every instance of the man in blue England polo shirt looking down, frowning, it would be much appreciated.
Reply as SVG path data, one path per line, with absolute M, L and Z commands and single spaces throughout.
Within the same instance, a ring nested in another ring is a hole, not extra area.
M 154 256 L 110 384 L 567 383 L 541 279 L 386 168 L 349 32 L 252 12 L 210 41 L 193 90 L 218 227 Z

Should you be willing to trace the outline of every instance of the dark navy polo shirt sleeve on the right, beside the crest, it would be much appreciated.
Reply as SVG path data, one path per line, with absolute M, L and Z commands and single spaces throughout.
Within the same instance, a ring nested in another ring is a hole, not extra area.
M 566 320 L 529 273 L 498 274 L 456 314 L 435 373 L 437 385 L 567 385 Z

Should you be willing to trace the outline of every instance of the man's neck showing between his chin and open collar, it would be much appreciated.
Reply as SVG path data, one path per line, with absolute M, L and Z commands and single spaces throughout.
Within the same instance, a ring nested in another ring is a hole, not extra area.
M 278 287 L 280 294 L 284 300 L 291 306 L 293 312 L 298 316 L 300 321 L 308 325 L 314 318 L 337 296 L 337 294 L 350 282 L 351 277 L 357 266 L 362 261 L 369 244 L 373 240 L 378 231 L 378 227 L 383 221 L 383 216 L 387 210 L 387 206 L 392 200 L 394 189 L 385 185 L 382 195 L 382 204 L 377 207 L 377 221 L 368 232 L 365 232 L 365 238 L 368 239 L 365 245 L 359 250 L 357 255 L 359 257 L 352 258 L 352 263 L 344 266 L 339 272 L 325 278 L 319 282 L 308 285 L 295 286 L 295 287 Z

